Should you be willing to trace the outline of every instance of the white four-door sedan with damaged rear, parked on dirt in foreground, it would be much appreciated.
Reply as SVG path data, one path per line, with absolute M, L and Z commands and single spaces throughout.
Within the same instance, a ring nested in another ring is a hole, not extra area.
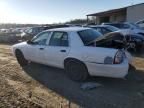
M 125 52 L 89 45 L 99 36 L 90 28 L 57 28 L 13 45 L 12 50 L 21 66 L 32 61 L 62 68 L 75 81 L 84 81 L 89 75 L 124 78 L 129 69 Z

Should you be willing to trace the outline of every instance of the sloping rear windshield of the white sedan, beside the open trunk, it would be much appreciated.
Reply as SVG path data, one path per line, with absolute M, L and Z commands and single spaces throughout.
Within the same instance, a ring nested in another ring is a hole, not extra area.
M 80 38 L 82 39 L 84 45 L 87 45 L 89 42 L 102 36 L 101 33 L 97 32 L 94 29 L 82 30 L 82 31 L 79 31 L 78 34 L 79 34 Z

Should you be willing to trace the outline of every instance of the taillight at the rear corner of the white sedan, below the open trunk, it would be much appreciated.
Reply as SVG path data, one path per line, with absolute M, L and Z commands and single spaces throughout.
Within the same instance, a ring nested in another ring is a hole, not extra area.
M 120 64 L 123 62 L 123 59 L 124 59 L 124 52 L 121 50 L 118 50 L 114 57 L 113 64 Z

